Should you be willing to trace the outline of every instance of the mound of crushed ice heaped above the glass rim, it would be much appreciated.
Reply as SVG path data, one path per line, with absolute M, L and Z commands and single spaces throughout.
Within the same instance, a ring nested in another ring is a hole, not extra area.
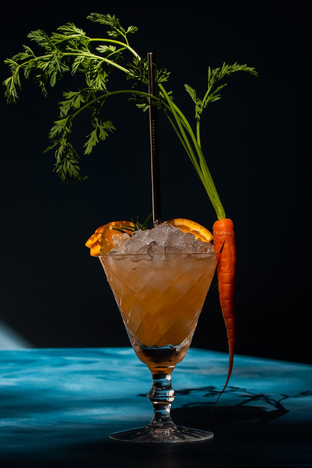
M 196 239 L 194 234 L 184 233 L 166 221 L 146 231 L 135 231 L 132 236 L 113 236 L 114 248 L 109 255 L 127 254 L 214 254 L 212 244 Z

